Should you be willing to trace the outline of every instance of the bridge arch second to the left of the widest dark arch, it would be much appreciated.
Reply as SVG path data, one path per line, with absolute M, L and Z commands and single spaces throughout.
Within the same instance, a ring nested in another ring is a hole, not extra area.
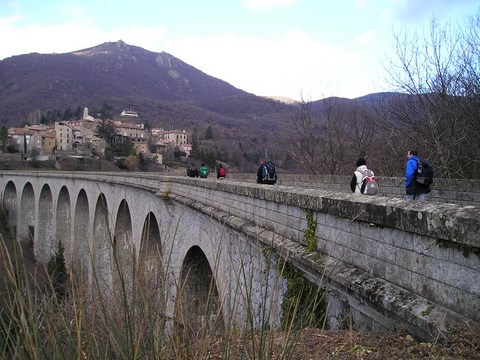
M 132 239 L 132 219 L 130 208 L 126 200 L 120 202 L 115 222 L 115 233 L 113 237 L 113 259 L 112 276 L 116 289 L 120 289 L 121 281 L 123 285 L 133 283 L 132 274 L 135 263 L 135 248 Z M 127 286 L 128 288 L 129 286 Z

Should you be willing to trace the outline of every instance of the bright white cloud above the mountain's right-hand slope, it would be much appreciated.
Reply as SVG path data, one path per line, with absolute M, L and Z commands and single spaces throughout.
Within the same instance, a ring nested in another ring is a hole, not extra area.
M 295 99 L 301 93 L 312 99 L 337 91 L 347 97 L 365 95 L 352 86 L 355 76 L 365 72 L 358 68 L 358 57 L 301 31 L 291 31 L 276 41 L 235 33 L 169 39 L 166 51 L 256 95 Z

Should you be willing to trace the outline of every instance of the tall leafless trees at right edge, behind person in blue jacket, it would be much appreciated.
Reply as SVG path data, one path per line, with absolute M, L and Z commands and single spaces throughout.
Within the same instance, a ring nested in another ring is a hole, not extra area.
M 382 119 L 401 154 L 417 148 L 442 177 L 480 176 L 479 35 L 478 15 L 465 28 L 432 19 L 427 31 L 395 35 L 390 80 L 409 96 L 384 104 Z

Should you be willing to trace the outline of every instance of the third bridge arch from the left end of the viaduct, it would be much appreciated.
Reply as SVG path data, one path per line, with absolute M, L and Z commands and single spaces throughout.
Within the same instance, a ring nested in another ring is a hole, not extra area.
M 50 186 L 43 185 L 38 200 L 37 242 L 35 254 L 40 262 L 47 263 L 54 251 L 53 196 Z

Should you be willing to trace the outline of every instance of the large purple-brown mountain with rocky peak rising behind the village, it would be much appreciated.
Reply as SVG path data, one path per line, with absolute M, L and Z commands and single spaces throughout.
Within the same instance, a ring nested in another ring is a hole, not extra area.
M 245 125 L 285 113 L 288 106 L 257 97 L 166 53 L 123 41 L 64 54 L 31 53 L 0 61 L 0 123 L 18 125 L 32 114 L 68 107 L 111 105 L 150 124 L 210 121 Z M 258 123 L 258 122 L 257 122 Z M 268 127 L 268 126 L 267 126 Z

